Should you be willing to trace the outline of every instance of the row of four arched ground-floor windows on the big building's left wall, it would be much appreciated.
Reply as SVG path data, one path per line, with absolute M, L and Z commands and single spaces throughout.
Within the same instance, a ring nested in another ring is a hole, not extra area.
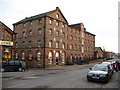
M 38 61 L 40 61 L 40 60 L 41 60 L 41 52 L 37 52 L 37 53 L 36 53 L 36 57 L 37 57 L 36 59 L 37 59 Z M 22 51 L 22 52 L 21 52 L 21 60 L 25 60 L 25 58 L 26 58 L 25 52 Z M 15 53 L 15 59 L 19 59 L 19 55 L 18 55 L 17 52 Z M 32 52 L 32 51 L 29 51 L 29 52 L 28 52 L 28 59 L 29 59 L 29 60 L 33 60 L 33 52 Z

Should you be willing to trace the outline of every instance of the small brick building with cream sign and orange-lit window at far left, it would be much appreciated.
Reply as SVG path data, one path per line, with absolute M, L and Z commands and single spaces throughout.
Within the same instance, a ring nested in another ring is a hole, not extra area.
M 12 59 L 14 32 L 0 21 L 0 59 L 6 61 Z

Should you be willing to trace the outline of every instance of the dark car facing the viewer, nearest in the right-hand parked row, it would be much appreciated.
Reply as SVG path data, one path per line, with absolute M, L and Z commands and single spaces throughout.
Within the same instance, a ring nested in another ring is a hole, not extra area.
M 112 77 L 112 70 L 104 64 L 96 64 L 87 73 L 88 81 L 100 81 L 107 83 Z

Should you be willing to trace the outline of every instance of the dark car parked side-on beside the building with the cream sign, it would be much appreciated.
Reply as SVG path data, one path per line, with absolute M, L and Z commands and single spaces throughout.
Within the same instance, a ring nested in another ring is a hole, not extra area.
M 10 60 L 6 63 L 2 64 L 1 71 L 25 71 L 26 64 L 24 61 L 21 60 Z

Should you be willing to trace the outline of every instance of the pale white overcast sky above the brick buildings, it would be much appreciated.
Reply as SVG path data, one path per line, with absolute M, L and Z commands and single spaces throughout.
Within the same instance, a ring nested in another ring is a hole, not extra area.
M 0 21 L 13 30 L 25 17 L 59 7 L 69 24 L 83 23 L 95 34 L 95 47 L 118 52 L 119 0 L 0 0 Z

